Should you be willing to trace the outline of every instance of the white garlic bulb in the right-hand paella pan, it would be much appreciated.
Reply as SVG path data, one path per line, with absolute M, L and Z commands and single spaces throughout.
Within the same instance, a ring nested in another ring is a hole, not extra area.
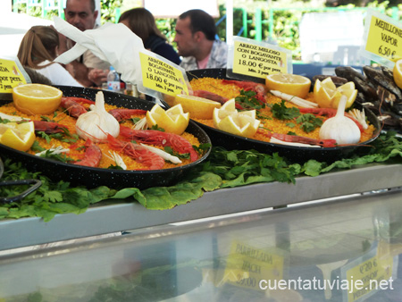
M 338 145 L 356 144 L 360 140 L 360 130 L 356 123 L 345 116 L 347 96 L 341 96 L 337 114 L 322 123 L 321 139 L 335 139 Z

